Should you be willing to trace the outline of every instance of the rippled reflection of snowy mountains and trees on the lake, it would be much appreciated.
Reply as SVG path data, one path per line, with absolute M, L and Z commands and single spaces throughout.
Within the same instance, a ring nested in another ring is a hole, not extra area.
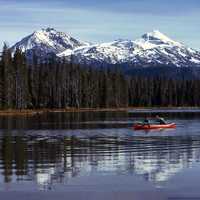
M 106 130 L 105 130 L 106 131 Z M 37 182 L 41 189 L 90 174 L 138 174 L 160 184 L 200 159 L 200 137 L 105 137 L 5 131 L 1 182 Z

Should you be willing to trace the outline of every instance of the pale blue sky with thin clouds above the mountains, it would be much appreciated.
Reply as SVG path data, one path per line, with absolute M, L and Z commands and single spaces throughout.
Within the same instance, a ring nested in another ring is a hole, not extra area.
M 0 0 L 0 47 L 46 27 L 91 42 L 156 29 L 200 49 L 200 0 Z

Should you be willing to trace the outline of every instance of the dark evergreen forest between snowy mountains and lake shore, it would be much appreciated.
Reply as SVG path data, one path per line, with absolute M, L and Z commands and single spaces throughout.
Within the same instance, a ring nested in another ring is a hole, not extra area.
M 200 106 L 200 80 L 125 76 L 64 60 L 28 64 L 4 45 L 0 59 L 0 108 L 109 108 Z

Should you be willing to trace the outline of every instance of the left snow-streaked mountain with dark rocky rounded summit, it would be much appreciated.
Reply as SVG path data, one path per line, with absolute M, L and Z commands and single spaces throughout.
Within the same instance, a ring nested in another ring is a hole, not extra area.
M 37 56 L 46 57 L 49 54 L 56 55 L 65 50 L 71 51 L 85 45 L 88 45 L 88 43 L 76 40 L 70 35 L 58 32 L 53 28 L 47 28 L 35 31 L 31 35 L 23 38 L 11 49 L 15 51 L 19 48 L 23 52 L 26 52 L 28 57 L 31 57 L 33 52 L 35 52 Z

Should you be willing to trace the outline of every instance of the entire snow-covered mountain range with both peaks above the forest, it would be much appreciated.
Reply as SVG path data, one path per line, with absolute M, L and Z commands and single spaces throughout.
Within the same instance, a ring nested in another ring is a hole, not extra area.
M 109 43 L 89 44 L 54 29 L 42 29 L 22 39 L 12 47 L 26 55 L 33 51 L 40 57 L 55 54 L 73 58 L 80 64 L 93 66 L 200 66 L 200 52 L 176 42 L 159 31 L 144 34 L 137 40 L 116 40 Z

